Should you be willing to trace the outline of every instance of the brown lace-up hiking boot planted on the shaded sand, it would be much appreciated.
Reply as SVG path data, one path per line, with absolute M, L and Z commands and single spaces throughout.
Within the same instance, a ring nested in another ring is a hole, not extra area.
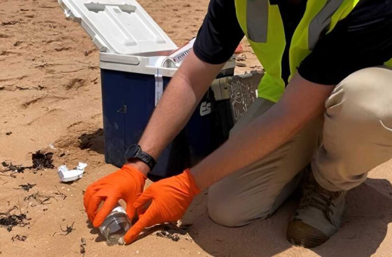
M 305 248 L 327 241 L 340 226 L 346 192 L 331 192 L 322 188 L 310 170 L 299 207 L 287 227 L 288 241 Z

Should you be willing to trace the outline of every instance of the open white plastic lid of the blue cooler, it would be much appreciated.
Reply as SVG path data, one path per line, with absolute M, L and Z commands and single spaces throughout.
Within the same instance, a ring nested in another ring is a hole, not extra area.
M 135 0 L 58 0 L 100 52 L 122 55 L 174 50 L 176 44 Z

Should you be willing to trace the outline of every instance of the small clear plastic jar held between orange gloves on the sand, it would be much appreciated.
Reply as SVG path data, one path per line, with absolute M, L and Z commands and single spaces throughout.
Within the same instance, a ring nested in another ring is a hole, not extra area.
M 117 204 L 100 226 L 100 232 L 108 245 L 124 244 L 124 236 L 130 227 L 131 222 L 127 213 Z

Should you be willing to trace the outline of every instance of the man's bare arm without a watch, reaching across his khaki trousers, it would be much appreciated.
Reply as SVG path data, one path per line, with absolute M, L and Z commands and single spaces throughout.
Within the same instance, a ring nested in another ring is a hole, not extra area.
M 307 121 L 324 112 L 324 102 L 333 88 L 295 75 L 276 105 L 191 169 L 197 186 L 206 188 L 285 143 Z

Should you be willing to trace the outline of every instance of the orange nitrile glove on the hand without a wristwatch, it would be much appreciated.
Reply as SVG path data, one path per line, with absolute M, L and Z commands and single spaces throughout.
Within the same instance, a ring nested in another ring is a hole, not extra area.
M 145 227 L 181 219 L 193 197 L 199 193 L 200 189 L 195 185 L 189 169 L 153 183 L 133 204 L 139 212 L 145 203 L 152 200 L 149 208 L 139 215 L 139 220 L 124 236 L 125 242 L 130 244 L 135 241 Z

